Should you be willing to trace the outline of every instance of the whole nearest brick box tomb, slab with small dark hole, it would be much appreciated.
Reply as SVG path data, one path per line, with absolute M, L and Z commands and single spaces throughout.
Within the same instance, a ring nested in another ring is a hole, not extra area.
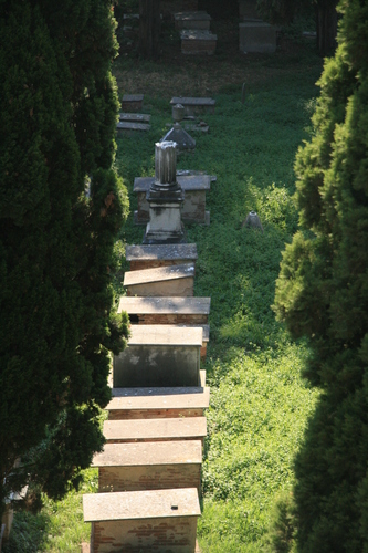
M 83 495 L 91 553 L 193 553 L 200 517 L 196 488 Z

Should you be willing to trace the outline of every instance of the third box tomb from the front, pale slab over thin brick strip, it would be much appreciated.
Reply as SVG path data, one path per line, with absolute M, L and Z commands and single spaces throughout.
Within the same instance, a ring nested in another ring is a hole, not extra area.
M 106 444 L 200 440 L 207 435 L 206 417 L 105 420 Z M 175 445 L 172 445 L 175 448 Z

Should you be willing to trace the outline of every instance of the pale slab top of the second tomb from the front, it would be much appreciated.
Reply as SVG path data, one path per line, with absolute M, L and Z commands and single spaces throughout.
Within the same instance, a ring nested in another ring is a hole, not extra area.
M 132 444 L 105 444 L 104 450 L 93 458 L 93 467 L 137 467 L 154 465 L 182 465 L 202 462 L 200 440 L 145 441 Z

